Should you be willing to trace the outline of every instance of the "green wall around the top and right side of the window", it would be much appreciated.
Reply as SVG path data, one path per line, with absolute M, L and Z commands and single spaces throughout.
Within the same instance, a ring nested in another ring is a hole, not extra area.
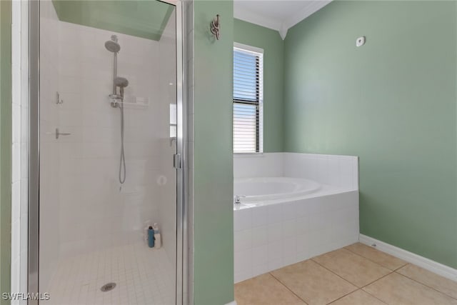
M 263 49 L 263 151 L 283 151 L 283 50 L 278 31 L 235 19 L 234 41 Z

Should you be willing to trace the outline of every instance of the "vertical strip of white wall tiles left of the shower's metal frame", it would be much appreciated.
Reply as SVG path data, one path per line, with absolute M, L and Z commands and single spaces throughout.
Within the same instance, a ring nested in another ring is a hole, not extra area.
M 27 236 L 27 196 L 23 189 L 26 188 L 28 176 L 27 156 L 28 146 L 28 96 L 26 80 L 28 80 L 26 43 L 27 30 L 24 12 L 27 4 L 21 1 L 12 3 L 11 24 L 11 75 L 12 75 L 12 173 L 11 173 L 11 292 L 26 292 L 24 286 L 24 272 L 26 269 Z M 26 277 L 25 277 L 26 279 Z M 13 300 L 11 304 L 25 304 L 25 301 Z

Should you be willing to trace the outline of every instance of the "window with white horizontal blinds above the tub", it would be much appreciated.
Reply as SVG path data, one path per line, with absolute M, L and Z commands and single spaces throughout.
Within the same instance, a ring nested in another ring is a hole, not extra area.
M 233 48 L 233 152 L 263 151 L 263 50 Z

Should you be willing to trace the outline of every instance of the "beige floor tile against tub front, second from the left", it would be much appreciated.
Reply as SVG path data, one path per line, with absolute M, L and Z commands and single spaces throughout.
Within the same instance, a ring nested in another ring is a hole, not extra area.
M 283 267 L 271 274 L 310 305 L 328 304 L 357 289 L 311 260 Z

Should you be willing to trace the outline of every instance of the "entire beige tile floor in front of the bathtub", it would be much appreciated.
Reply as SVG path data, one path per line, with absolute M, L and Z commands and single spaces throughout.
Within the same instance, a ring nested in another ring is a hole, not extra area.
M 345 248 L 235 285 L 238 305 L 457 304 L 457 282 L 366 246 Z

